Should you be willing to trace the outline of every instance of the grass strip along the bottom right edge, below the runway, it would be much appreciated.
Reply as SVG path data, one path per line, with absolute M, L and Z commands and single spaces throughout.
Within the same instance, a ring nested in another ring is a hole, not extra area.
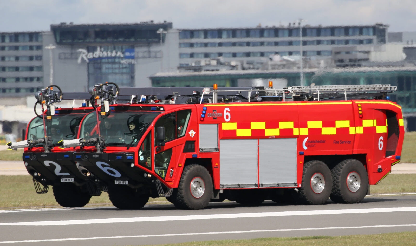
M 214 236 L 213 236 L 214 237 Z M 416 232 L 391 232 L 384 234 L 351 236 L 304 236 L 282 238 L 258 238 L 238 240 L 195 241 L 159 246 L 334 246 L 334 245 L 415 245 Z

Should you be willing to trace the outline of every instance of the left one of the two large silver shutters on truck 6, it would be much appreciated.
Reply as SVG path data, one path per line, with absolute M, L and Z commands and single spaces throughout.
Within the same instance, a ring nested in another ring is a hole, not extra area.
M 220 184 L 257 187 L 257 139 L 222 139 L 220 148 Z

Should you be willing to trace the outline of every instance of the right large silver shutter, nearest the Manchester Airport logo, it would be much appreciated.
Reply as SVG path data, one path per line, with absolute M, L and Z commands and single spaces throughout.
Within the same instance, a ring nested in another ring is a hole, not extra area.
M 291 186 L 296 183 L 296 138 L 260 139 L 259 154 L 260 186 Z

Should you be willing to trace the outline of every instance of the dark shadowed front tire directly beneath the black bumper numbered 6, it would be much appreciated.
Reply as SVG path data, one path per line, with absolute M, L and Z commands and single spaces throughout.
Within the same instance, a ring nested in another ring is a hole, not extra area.
M 140 194 L 126 185 L 109 186 L 108 197 L 119 209 L 141 209 L 149 201 L 149 195 Z

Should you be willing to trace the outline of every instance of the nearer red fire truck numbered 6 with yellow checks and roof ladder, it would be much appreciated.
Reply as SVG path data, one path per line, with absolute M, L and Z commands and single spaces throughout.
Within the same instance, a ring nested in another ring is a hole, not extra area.
M 81 123 L 79 137 L 101 129 L 105 144 L 74 153 L 121 209 L 141 208 L 149 197 L 182 209 L 287 194 L 305 204 L 357 203 L 400 161 L 394 86 L 126 90 L 138 95 L 131 103 Z

